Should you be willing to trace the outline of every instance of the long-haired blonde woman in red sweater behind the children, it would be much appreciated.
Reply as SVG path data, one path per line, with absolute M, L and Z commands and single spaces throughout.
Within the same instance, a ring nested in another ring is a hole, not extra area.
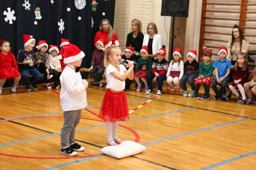
M 94 36 L 94 46 L 96 46 L 96 42 L 98 42 L 98 40 L 103 42 L 104 46 L 106 46 L 107 44 L 120 45 L 118 36 L 114 32 L 114 30 L 110 24 L 110 21 L 108 19 L 102 19 L 102 22 L 99 26 L 99 30 Z

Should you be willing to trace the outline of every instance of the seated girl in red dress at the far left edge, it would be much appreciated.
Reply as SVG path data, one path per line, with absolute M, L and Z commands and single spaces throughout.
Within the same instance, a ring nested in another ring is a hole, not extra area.
M 16 92 L 21 74 L 18 73 L 14 54 L 10 52 L 10 42 L 2 39 L 0 40 L 0 93 L 2 93 L 2 85 L 5 84 L 7 78 L 14 78 L 14 86 L 10 91 Z

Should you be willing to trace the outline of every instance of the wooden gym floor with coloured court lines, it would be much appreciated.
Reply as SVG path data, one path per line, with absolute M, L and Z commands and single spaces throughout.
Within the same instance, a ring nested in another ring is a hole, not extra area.
M 22 90 L 20 90 L 22 91 Z M 177 93 L 160 97 L 126 92 L 130 121 L 118 136 L 146 146 L 146 152 L 116 160 L 106 146 L 99 112 L 105 89 L 90 86 L 76 139 L 86 148 L 63 156 L 59 132 L 59 90 L 0 96 L 0 169 L 255 169 L 255 105 L 198 101 Z

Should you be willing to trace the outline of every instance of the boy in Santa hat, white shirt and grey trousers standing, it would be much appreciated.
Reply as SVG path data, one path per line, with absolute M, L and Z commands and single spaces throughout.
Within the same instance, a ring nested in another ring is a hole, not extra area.
M 61 153 L 76 156 L 75 151 L 84 151 L 80 144 L 75 143 L 75 128 L 79 123 L 82 109 L 87 106 L 86 89 L 88 82 L 82 80 L 80 73 L 75 68 L 81 66 L 82 57 L 85 56 L 76 45 L 63 46 L 65 69 L 60 77 L 62 89 L 60 101 L 64 113 L 64 123 L 61 132 Z

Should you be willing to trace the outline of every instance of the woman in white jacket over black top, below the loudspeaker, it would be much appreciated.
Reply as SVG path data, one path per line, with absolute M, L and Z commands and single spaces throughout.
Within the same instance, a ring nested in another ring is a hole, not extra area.
M 158 49 L 162 48 L 162 36 L 158 34 L 158 28 L 154 22 L 147 25 L 147 34 L 144 35 L 143 44 L 149 47 L 149 57 L 156 57 Z

